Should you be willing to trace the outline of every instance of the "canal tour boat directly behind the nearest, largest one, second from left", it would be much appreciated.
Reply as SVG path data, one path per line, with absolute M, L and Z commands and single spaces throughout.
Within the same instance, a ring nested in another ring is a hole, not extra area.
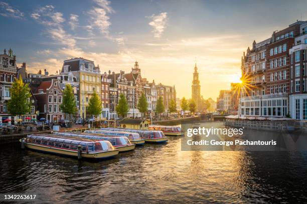
M 75 133 L 75 132 L 54 132 L 53 134 L 59 135 L 61 137 L 74 137 L 74 138 L 84 138 L 89 140 L 106 140 L 109 141 L 115 149 L 119 152 L 133 150 L 135 144 L 131 144 L 127 137 L 103 137 L 99 134 L 93 133 Z

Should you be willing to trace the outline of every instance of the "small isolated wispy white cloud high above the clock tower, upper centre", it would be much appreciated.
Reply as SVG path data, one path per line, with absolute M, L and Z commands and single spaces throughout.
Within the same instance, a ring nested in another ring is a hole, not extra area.
M 167 20 L 168 20 L 168 13 L 163 12 L 160 15 L 152 15 L 150 18 L 152 21 L 149 22 L 149 26 L 151 26 L 154 30 L 152 30 L 152 33 L 154 33 L 155 38 L 160 38 L 167 26 Z

